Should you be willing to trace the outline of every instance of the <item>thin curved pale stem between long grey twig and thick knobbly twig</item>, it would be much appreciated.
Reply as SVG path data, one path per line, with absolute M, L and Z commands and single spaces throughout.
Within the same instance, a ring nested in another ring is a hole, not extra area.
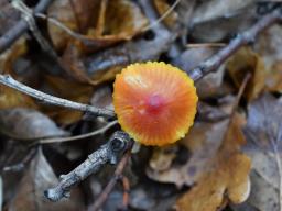
M 102 134 L 105 133 L 108 129 L 110 129 L 111 126 L 118 124 L 118 121 L 115 120 L 112 122 L 107 123 L 105 126 L 102 126 L 101 129 L 98 129 L 96 131 L 93 131 L 90 133 L 86 133 L 86 134 L 82 134 L 82 135 L 75 135 L 72 137 L 55 137 L 55 138 L 48 138 L 48 140 L 41 140 L 35 144 L 52 144 L 52 143 L 62 143 L 62 142 L 72 142 L 72 141 L 76 141 L 76 140 L 83 140 L 86 137 L 91 137 L 98 134 Z

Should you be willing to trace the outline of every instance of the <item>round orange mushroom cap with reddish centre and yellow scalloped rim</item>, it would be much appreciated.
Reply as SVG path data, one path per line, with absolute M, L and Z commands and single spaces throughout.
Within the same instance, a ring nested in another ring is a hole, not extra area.
M 197 106 L 194 81 L 165 63 L 133 64 L 118 74 L 113 107 L 121 129 L 144 145 L 165 145 L 184 137 Z

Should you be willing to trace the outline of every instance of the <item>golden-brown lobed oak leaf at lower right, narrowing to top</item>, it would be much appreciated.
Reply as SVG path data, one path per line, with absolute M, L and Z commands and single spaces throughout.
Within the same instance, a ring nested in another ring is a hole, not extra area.
M 177 200 L 177 210 L 216 211 L 228 200 L 241 203 L 248 198 L 251 164 L 250 158 L 240 152 L 245 143 L 241 125 L 241 118 L 235 114 L 216 157 L 210 162 L 213 168 Z

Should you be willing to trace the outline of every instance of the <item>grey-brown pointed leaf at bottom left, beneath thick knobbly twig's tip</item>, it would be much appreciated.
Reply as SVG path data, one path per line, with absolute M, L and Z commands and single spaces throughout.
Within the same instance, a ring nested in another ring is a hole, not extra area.
M 25 171 L 14 198 L 8 206 L 9 211 L 55 211 L 55 210 L 85 210 L 80 191 L 72 191 L 69 199 L 56 203 L 48 201 L 43 196 L 44 190 L 55 186 L 57 178 L 40 148 L 36 156 Z

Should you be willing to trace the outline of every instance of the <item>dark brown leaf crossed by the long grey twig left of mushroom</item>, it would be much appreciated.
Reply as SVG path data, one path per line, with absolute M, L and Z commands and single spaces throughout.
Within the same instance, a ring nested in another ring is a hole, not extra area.
M 93 87 L 84 84 L 69 81 L 54 76 L 46 76 L 46 86 L 54 92 L 54 96 L 73 100 L 80 103 L 89 103 Z M 75 91 L 74 91 L 75 90 Z M 45 113 L 61 124 L 72 124 L 82 119 L 83 113 L 64 108 L 43 107 Z

